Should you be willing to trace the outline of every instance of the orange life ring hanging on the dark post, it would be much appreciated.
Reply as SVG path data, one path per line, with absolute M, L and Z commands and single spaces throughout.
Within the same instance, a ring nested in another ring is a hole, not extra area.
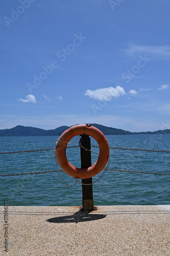
M 99 144 L 100 154 L 98 160 L 88 168 L 77 168 L 68 162 L 65 149 L 68 141 L 77 135 L 86 134 L 93 137 Z M 100 173 L 109 158 L 109 144 L 105 135 L 96 127 L 89 124 L 77 124 L 71 126 L 62 133 L 56 143 L 56 158 L 62 170 L 71 177 L 88 179 Z

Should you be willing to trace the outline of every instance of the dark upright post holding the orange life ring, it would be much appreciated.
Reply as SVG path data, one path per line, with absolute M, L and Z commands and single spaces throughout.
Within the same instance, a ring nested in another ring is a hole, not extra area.
M 90 150 L 90 138 L 88 135 L 81 135 L 80 143 L 82 146 Z M 91 152 L 84 150 L 81 147 L 81 168 L 87 168 L 91 166 Z M 92 178 L 82 179 L 83 184 L 91 184 Z M 93 210 L 93 191 L 91 185 L 82 184 L 82 196 L 83 196 L 83 210 Z

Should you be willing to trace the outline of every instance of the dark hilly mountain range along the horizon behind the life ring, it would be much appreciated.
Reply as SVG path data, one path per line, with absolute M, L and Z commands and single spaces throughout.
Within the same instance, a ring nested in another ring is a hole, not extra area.
M 135 132 L 131 133 L 122 129 L 107 127 L 97 123 L 90 123 L 98 128 L 105 135 L 132 135 L 132 134 L 170 134 L 170 130 L 159 130 L 155 132 Z M 44 130 L 31 126 L 17 125 L 11 129 L 0 130 L 0 137 L 5 136 L 60 136 L 69 126 L 63 125 L 54 130 Z

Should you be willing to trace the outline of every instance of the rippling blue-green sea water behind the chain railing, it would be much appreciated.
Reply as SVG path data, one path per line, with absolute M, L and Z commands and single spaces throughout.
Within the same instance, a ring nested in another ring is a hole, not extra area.
M 170 151 L 170 135 L 110 135 L 110 146 Z M 54 148 L 57 136 L 1 137 L 0 152 Z M 72 139 L 73 140 L 73 139 Z M 72 143 L 78 145 L 79 139 Z M 96 142 L 91 139 L 91 144 Z M 98 148 L 92 147 L 98 152 Z M 80 167 L 80 148 L 66 150 L 68 160 Z M 92 163 L 96 161 L 92 153 Z M 56 170 L 54 151 L 0 155 L 0 174 Z M 110 149 L 112 169 L 170 173 L 170 153 L 138 152 Z M 93 177 L 93 182 L 102 172 Z M 75 179 L 60 172 L 62 180 L 71 185 Z M 0 205 L 82 205 L 82 185 L 65 187 L 57 173 L 0 177 Z M 157 205 L 169 204 L 170 176 L 132 174 L 106 171 L 93 184 L 94 205 Z

